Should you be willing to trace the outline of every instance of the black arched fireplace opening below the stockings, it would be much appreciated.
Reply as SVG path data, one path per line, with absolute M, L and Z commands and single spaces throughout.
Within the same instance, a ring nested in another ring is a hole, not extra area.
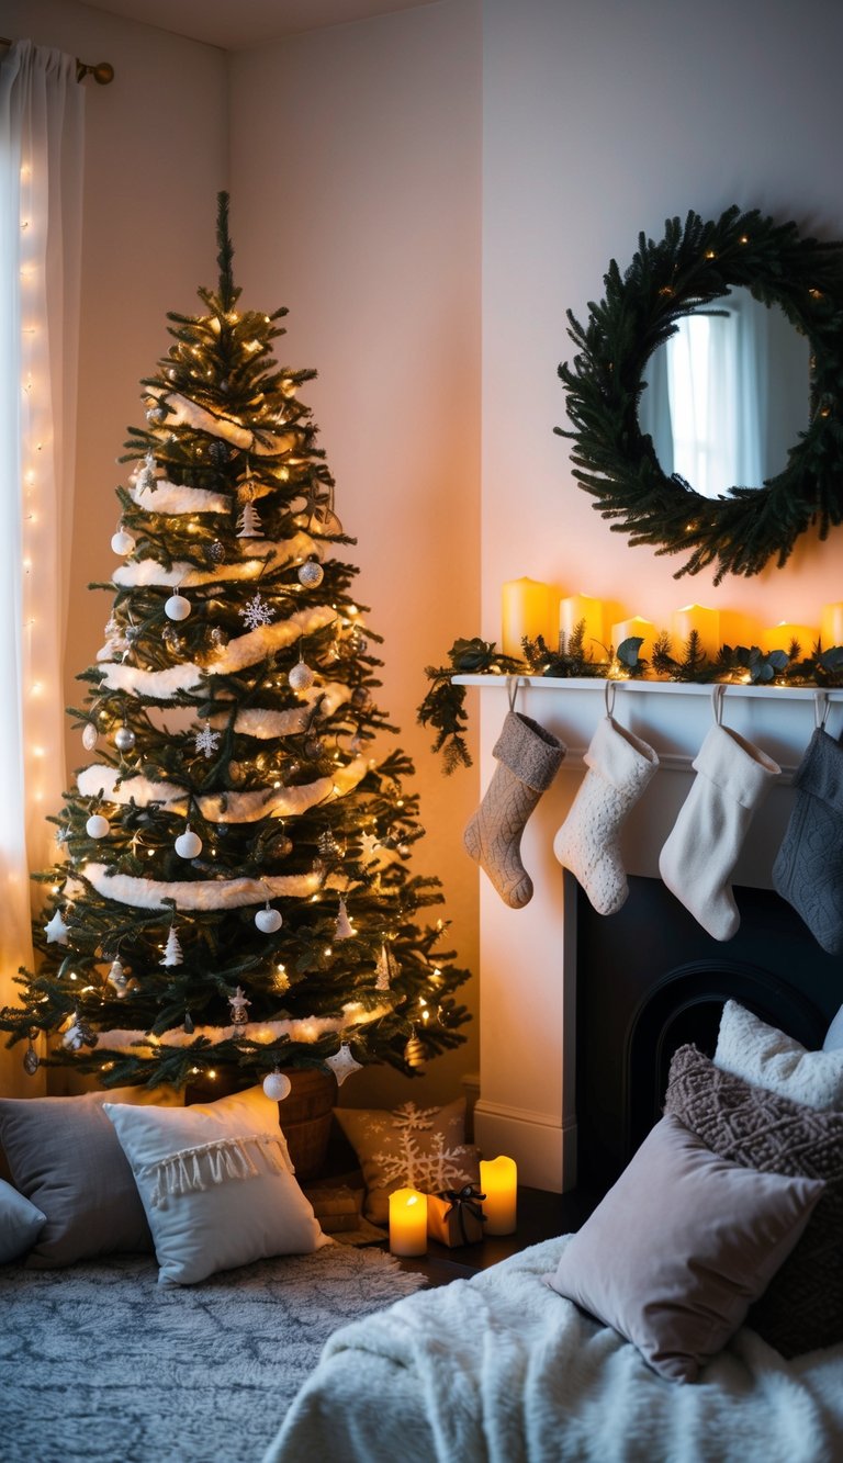
M 720 942 L 659 879 L 632 876 L 618 914 L 574 879 L 578 1184 L 604 1192 L 662 1115 L 670 1059 L 714 1055 L 726 1001 L 817 1049 L 843 1002 L 843 960 L 825 954 L 768 890 L 736 888 L 741 928 Z

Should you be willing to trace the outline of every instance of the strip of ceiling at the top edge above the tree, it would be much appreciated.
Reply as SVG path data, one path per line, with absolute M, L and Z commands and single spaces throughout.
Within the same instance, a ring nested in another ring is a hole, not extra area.
M 225 51 L 244 51 L 299 31 L 410 10 L 433 0 L 86 0 L 127 20 L 157 25 Z

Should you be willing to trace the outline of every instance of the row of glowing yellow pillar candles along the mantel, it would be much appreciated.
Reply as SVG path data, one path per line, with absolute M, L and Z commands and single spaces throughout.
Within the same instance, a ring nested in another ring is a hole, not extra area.
M 527 578 L 511 579 L 503 585 L 501 647 L 505 655 L 520 657 L 521 642 L 534 641 L 539 635 L 549 650 L 556 650 L 563 639 L 574 635 L 578 625 L 584 626 L 585 652 L 594 660 L 600 660 L 600 648 L 606 650 L 609 644 L 618 647 L 634 635 L 644 641 L 641 655 L 648 660 L 660 633 L 659 626 L 641 614 L 632 614 L 607 626 L 603 601 L 590 594 L 568 594 L 561 598 L 550 584 Z M 691 631 L 697 631 L 704 655 L 716 660 L 723 644 L 720 612 L 710 610 L 704 604 L 685 604 L 681 610 L 673 610 L 670 635 L 675 644 L 685 645 Z M 795 625 L 787 620 L 770 626 L 761 633 L 761 650 L 789 651 L 793 641 L 798 641 L 802 655 L 809 655 L 818 639 L 825 650 L 843 645 L 843 601 L 825 604 L 818 626 Z

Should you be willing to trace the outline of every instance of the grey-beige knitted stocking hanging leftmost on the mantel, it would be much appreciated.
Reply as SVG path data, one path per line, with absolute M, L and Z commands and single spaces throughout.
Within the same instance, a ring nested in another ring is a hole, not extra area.
M 521 834 L 556 777 L 565 746 L 537 721 L 509 711 L 492 756 L 498 767 L 465 828 L 464 843 L 503 903 L 520 910 L 533 898 L 533 881 L 521 863 Z

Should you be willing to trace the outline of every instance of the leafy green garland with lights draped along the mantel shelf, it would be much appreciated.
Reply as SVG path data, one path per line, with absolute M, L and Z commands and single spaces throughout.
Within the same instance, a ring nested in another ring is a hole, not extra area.
M 458 767 L 471 767 L 465 740 L 465 686 L 455 685 L 454 676 L 641 680 L 650 674 L 651 679 L 695 685 L 732 682 L 752 686 L 817 686 L 825 691 L 843 686 L 843 645 L 823 650 L 818 642 L 809 655 L 802 654 L 803 647 L 798 641 L 787 651 L 763 651 L 758 645 L 722 645 L 717 658 L 708 660 L 697 631 L 691 631 L 678 657 L 670 636 L 662 631 L 653 644 L 653 658 L 645 660 L 640 654 L 642 644 L 641 636 L 631 635 L 618 650 L 606 647 L 606 660 L 594 660 L 585 650 L 582 620 L 556 651 L 549 650 L 542 635 L 522 639 L 522 660 L 503 655 L 495 641 L 484 641 L 479 635 L 457 639 L 448 651 L 448 666 L 427 666 L 424 670 L 430 688 L 419 707 L 419 724 L 436 729 L 433 752 L 442 752 L 442 770 L 449 777 Z

